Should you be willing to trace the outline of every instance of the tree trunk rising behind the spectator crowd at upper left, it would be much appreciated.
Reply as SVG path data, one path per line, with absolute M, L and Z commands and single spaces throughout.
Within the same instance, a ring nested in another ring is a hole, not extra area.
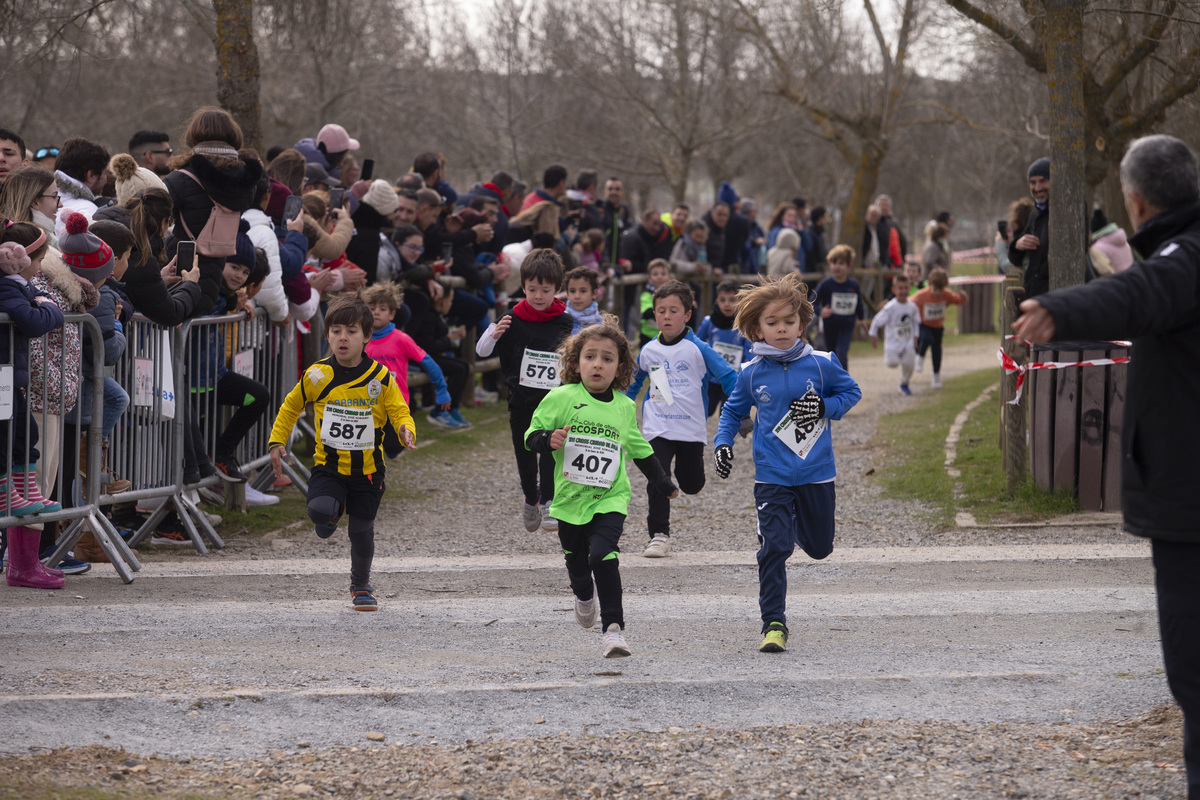
M 241 126 L 246 148 L 263 151 L 253 0 L 212 0 L 217 12 L 217 102 Z M 336 164 L 335 164 L 336 166 Z

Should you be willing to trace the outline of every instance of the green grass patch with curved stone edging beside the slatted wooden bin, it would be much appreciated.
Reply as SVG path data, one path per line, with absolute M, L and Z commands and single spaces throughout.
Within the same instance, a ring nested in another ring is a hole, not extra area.
M 998 374 L 982 369 L 949 378 L 940 392 L 926 395 L 914 408 L 880 420 L 876 441 L 894 457 L 882 470 L 887 493 L 934 506 L 932 524 L 953 525 L 958 511 L 968 511 L 982 523 L 1031 522 L 1078 507 L 1069 495 L 1042 492 L 1032 480 L 1015 497 L 1006 497 L 996 392 L 971 413 L 960 434 L 955 467 L 962 473 L 956 479 L 961 493 L 955 497 L 955 479 L 944 467 L 946 435 L 962 408 L 996 383 Z

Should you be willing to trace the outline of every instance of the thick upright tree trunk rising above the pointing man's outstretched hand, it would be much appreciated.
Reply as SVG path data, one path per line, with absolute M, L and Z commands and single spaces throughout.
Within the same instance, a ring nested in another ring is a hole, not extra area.
M 1050 289 L 1084 282 L 1087 192 L 1084 98 L 1086 0 L 1045 0 L 1046 85 L 1050 89 Z

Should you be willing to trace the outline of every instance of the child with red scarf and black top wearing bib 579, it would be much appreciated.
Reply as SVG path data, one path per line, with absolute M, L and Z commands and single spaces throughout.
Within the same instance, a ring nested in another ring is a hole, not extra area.
M 524 435 L 533 413 L 551 389 L 562 384 L 558 375 L 558 345 L 571 333 L 566 305 L 554 294 L 563 283 L 563 260 L 553 249 L 534 249 L 521 261 L 521 287 L 526 297 L 510 313 L 488 326 L 479 337 L 475 353 L 486 359 L 497 350 L 500 371 L 509 386 L 509 426 L 512 450 L 524 494 L 522 522 L 526 530 L 558 530 L 550 516 L 554 499 L 554 459 L 526 447 Z M 539 480 L 540 479 L 540 480 Z

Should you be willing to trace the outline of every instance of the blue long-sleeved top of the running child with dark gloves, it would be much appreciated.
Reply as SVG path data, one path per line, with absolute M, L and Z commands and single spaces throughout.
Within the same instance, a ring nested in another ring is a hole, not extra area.
M 790 404 L 809 389 L 824 398 L 824 431 L 808 457 L 800 458 L 779 437 L 775 426 L 791 414 Z M 794 361 L 756 356 L 738 373 L 733 393 L 721 409 L 714 445 L 733 446 L 742 420 L 750 407 L 758 409 L 754 426 L 755 481 L 778 486 L 824 483 L 838 475 L 833 458 L 829 420 L 840 420 L 863 398 L 858 384 L 841 368 L 838 356 L 804 345 Z

